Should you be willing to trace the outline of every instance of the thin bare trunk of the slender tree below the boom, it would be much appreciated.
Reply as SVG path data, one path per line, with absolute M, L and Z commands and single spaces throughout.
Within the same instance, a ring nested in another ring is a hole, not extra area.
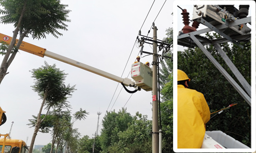
M 33 150 L 33 147 L 34 147 L 35 138 L 36 138 L 37 132 L 39 131 L 39 127 L 40 127 L 40 124 L 41 124 L 41 112 L 42 112 L 42 108 L 44 108 L 46 97 L 47 97 L 47 89 L 45 91 L 44 99 L 42 100 L 42 104 L 41 104 L 40 110 L 39 110 L 38 115 L 37 115 L 35 130 L 34 130 L 34 133 L 33 133 L 32 139 L 31 139 L 31 143 L 30 143 L 28 153 L 32 153 L 32 150 Z

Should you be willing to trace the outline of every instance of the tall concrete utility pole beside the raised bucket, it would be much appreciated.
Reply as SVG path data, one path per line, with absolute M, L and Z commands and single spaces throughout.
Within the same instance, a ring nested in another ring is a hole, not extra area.
M 159 151 L 159 127 L 158 127 L 158 86 L 157 86 L 157 27 L 153 27 L 153 106 L 152 106 L 152 152 Z

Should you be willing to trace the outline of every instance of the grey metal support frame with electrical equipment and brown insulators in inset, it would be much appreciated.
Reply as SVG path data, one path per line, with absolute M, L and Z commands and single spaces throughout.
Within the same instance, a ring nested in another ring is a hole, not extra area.
M 178 44 L 186 47 L 199 47 L 207 58 L 224 75 L 227 81 L 251 106 L 251 86 L 220 46 L 220 43 L 231 42 L 241 48 L 244 48 L 244 46 L 239 42 L 251 39 L 251 29 L 247 26 L 247 24 L 251 24 L 251 17 L 247 17 L 248 9 L 249 5 L 240 5 L 240 10 L 235 8 L 233 5 L 194 5 L 194 22 L 192 27 L 188 25 L 189 13 L 184 9 L 182 10 L 182 15 L 185 27 L 179 32 Z M 197 31 L 199 23 L 205 25 L 207 28 Z M 209 40 L 206 37 L 200 36 L 201 34 L 212 31 L 220 34 L 222 38 Z M 215 46 L 218 53 L 221 55 L 244 89 L 234 81 L 218 61 L 206 50 L 205 45 L 208 44 Z

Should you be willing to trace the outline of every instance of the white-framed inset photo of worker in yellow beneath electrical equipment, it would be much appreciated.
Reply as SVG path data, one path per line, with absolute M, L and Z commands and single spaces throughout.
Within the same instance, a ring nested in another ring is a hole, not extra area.
M 255 151 L 255 94 L 255 2 L 175 1 L 174 151 Z

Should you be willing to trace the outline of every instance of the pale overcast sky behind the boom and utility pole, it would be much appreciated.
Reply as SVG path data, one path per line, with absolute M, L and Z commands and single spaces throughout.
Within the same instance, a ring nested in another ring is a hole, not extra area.
M 51 35 L 40 40 L 29 36 L 25 37 L 24 41 L 118 77 L 131 79 L 131 64 L 136 60 L 140 50 L 137 43 L 134 46 L 138 32 L 141 29 L 141 34 L 147 35 L 164 3 L 155 20 L 158 29 L 157 39 L 162 40 L 166 37 L 166 29 L 173 27 L 173 1 L 155 1 L 147 16 L 153 2 L 63 0 L 61 3 L 69 5 L 67 9 L 72 10 L 69 13 L 71 22 L 67 22 L 68 31 L 59 31 L 63 36 L 58 39 Z M 0 24 L 0 33 L 12 37 L 12 31 L 12 24 Z M 148 36 L 153 37 L 153 30 Z M 153 52 L 152 50 L 152 45 L 144 45 L 144 51 Z M 151 63 L 153 59 L 152 56 L 145 54 L 141 57 L 143 63 Z M 3 57 L 0 57 L 1 62 L 2 60 Z M 118 112 L 124 106 L 132 116 L 140 112 L 147 115 L 148 119 L 152 119 L 151 91 L 141 90 L 131 96 L 130 93 L 121 90 L 121 85 L 117 82 L 48 57 L 41 58 L 20 50 L 8 68 L 9 74 L 0 85 L 0 107 L 6 111 L 7 116 L 7 122 L 0 127 L 1 134 L 9 133 L 13 121 L 11 138 L 22 139 L 30 145 L 34 129 L 27 125 L 28 119 L 32 119 L 32 115 L 37 115 L 42 101 L 32 90 L 34 80 L 31 78 L 30 70 L 44 65 L 44 61 L 49 65 L 56 64 L 57 68 L 68 73 L 66 85 L 76 85 L 77 90 L 68 98 L 72 114 L 80 108 L 90 113 L 85 120 L 78 120 L 73 125 L 81 136 L 94 137 L 97 129 L 97 112 L 102 113 L 99 116 L 99 123 L 106 111 Z M 42 113 L 46 113 L 46 110 Z M 100 129 L 102 126 L 99 126 L 99 134 Z M 50 134 L 38 133 L 35 145 L 45 145 L 50 141 Z

